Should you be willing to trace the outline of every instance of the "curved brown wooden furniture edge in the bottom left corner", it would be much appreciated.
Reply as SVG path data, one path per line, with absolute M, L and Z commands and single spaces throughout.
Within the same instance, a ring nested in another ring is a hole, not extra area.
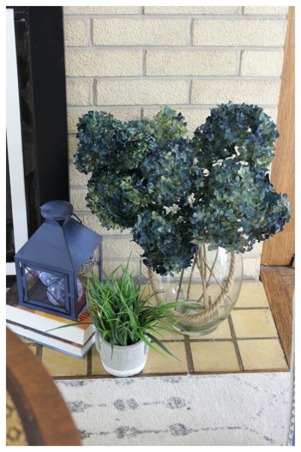
M 7 328 L 7 389 L 30 445 L 82 445 L 68 407 L 51 376 Z

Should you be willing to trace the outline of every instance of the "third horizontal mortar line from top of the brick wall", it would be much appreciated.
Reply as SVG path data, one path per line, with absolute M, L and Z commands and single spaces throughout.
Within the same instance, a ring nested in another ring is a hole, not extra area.
M 95 76 L 95 75 L 66 75 L 67 81 L 89 81 L 95 79 L 97 81 L 124 81 L 124 80 L 239 80 L 239 81 L 270 81 L 280 80 L 280 75 L 112 75 L 112 76 Z

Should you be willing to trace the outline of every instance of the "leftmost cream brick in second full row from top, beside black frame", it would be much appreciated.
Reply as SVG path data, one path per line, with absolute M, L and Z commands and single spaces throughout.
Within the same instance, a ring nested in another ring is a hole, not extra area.
M 138 50 L 67 50 L 65 61 L 67 76 L 140 75 Z

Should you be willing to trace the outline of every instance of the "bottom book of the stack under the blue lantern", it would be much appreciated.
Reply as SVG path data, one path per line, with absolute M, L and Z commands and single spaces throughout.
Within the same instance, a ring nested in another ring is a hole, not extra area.
M 95 334 L 92 333 L 91 337 L 84 345 L 75 344 L 69 341 L 64 341 L 56 337 L 46 336 L 42 333 L 34 331 L 31 328 L 25 328 L 15 323 L 7 322 L 8 328 L 14 331 L 21 337 L 29 341 L 36 342 L 45 347 L 50 347 L 51 349 L 58 350 L 59 352 L 66 353 L 68 355 L 74 356 L 76 358 L 84 358 L 84 356 L 89 352 L 95 343 Z

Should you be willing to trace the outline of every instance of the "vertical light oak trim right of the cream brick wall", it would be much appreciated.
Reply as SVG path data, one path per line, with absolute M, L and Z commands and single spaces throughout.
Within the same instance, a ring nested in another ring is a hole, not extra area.
M 276 154 L 271 167 L 271 184 L 290 201 L 291 218 L 284 230 L 265 241 L 261 264 L 290 265 L 294 255 L 294 124 L 295 124 L 295 58 L 294 7 L 288 7 L 284 58 L 278 103 Z

